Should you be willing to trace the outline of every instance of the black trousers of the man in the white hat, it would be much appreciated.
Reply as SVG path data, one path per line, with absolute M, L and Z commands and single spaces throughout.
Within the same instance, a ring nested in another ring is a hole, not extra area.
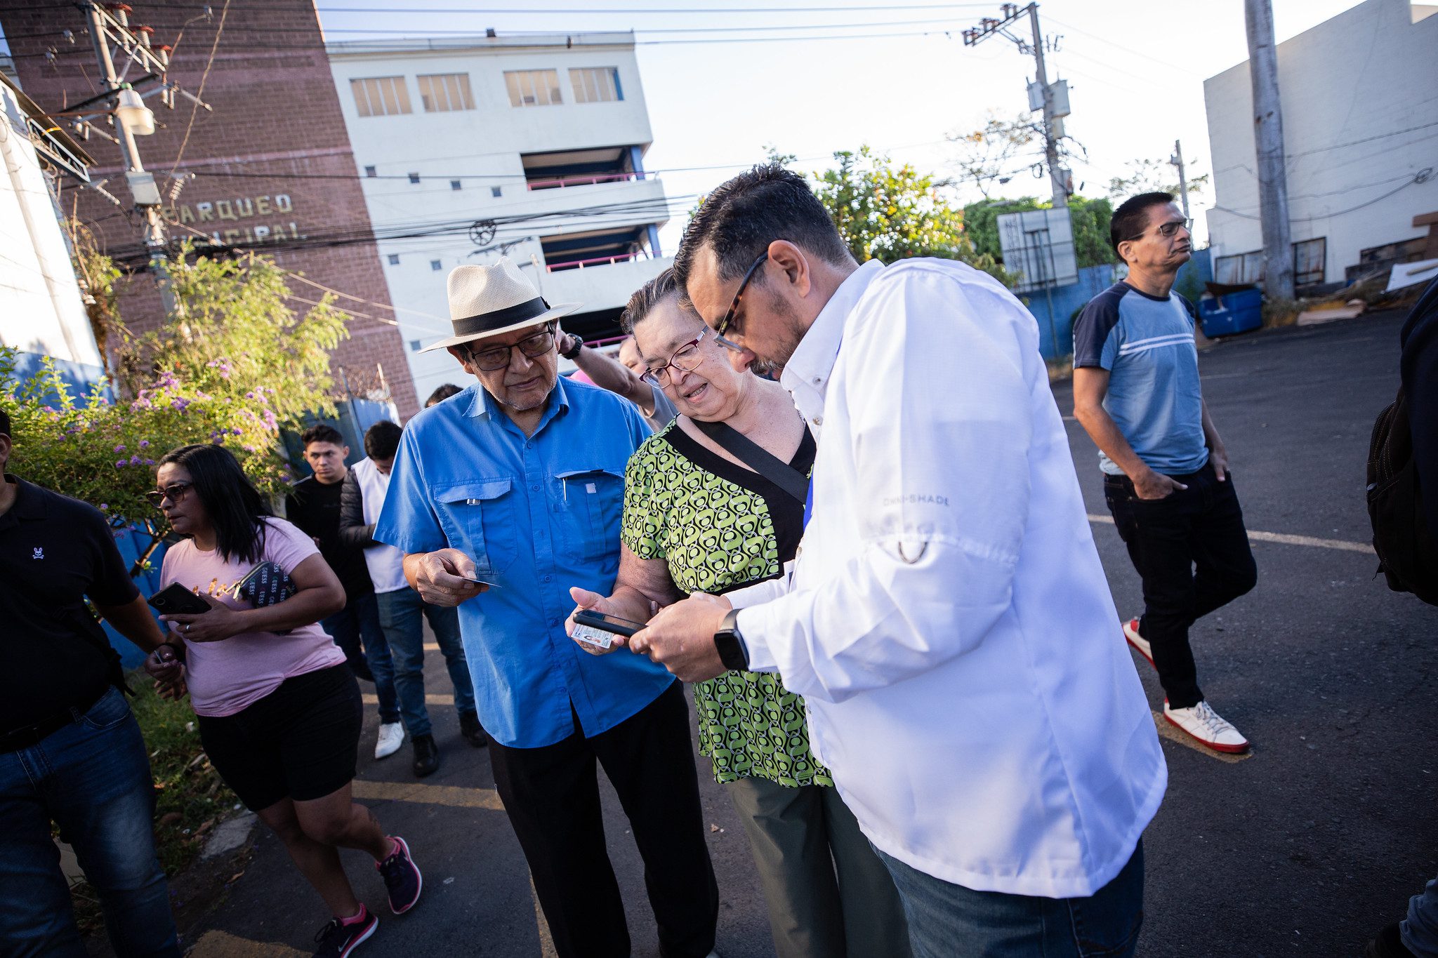
M 705 958 L 715 947 L 719 886 L 709 862 L 689 705 L 674 682 L 614 728 L 541 748 L 490 743 L 495 789 L 529 862 L 559 958 L 628 958 L 618 880 L 604 847 L 604 766 L 634 843 L 666 958 Z

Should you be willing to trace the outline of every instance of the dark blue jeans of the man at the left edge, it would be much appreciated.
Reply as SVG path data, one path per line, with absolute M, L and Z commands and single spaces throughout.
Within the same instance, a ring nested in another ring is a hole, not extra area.
M 0 949 L 85 958 L 50 820 L 99 893 L 121 958 L 178 958 L 155 857 L 154 781 L 139 724 L 111 688 L 40 743 L 0 753 Z

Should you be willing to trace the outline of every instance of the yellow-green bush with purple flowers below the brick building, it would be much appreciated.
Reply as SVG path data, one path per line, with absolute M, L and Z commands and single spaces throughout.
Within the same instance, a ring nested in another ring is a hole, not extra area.
M 278 497 L 290 478 L 280 429 L 334 412 L 329 350 L 348 335 L 348 315 L 329 296 L 303 313 L 290 309 L 286 276 L 265 257 L 184 248 L 171 263 L 175 316 L 134 335 L 115 312 L 118 270 L 93 247 L 81 259 L 116 376 L 76 395 L 53 361 L 22 378 L 19 355 L 0 348 L 0 409 L 12 419 L 16 473 L 152 540 L 164 523 L 144 494 L 155 461 L 175 447 L 226 445 Z

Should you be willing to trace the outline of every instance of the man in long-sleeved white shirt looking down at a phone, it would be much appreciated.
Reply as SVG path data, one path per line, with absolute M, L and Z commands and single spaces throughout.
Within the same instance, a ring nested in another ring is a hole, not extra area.
M 1130 955 L 1168 773 L 1032 316 L 962 263 L 857 266 L 772 165 L 709 194 L 674 271 L 736 362 L 784 368 L 811 521 L 789 576 L 630 648 L 804 695 L 916 957 Z

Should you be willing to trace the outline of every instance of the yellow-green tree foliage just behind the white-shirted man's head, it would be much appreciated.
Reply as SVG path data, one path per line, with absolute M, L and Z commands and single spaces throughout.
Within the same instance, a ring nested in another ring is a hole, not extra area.
M 860 147 L 834 154 L 838 164 L 814 174 L 815 194 L 860 263 L 913 256 L 962 260 L 1009 282 L 992 256 L 979 254 L 963 228 L 963 213 L 940 192 L 948 184 Z

